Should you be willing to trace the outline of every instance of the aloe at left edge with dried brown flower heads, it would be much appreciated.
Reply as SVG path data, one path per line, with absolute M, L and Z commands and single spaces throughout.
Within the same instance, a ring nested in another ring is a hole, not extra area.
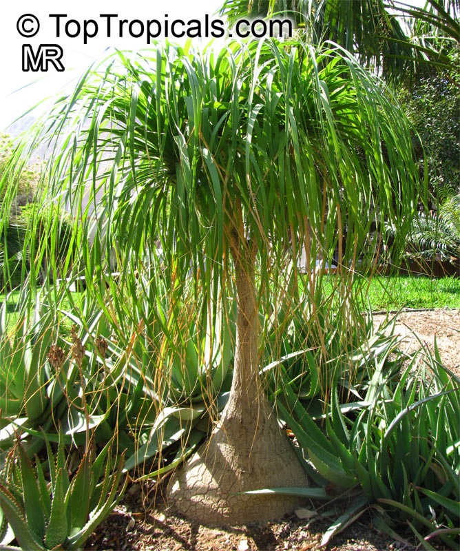
M 66 342 L 54 330 L 52 312 L 41 304 L 39 295 L 32 315 L 19 313 L 14 331 L 8 329 L 6 318 L 3 304 L 0 358 L 8 369 L 0 371 L 0 449 L 7 450 L 16 433 L 23 431 L 24 436 L 29 435 L 25 448 L 33 455 L 43 446 L 43 438 L 36 435 L 39 427 L 55 434 L 59 419 L 67 444 L 71 437 L 83 444 L 86 430 L 107 417 L 98 410 L 97 399 L 93 402 L 90 398 L 92 393 L 103 392 L 101 377 L 91 375 L 94 353 L 89 357 L 74 354 L 75 347 L 81 345 L 79 335 L 74 333 L 74 341 Z M 85 393 L 79 393 L 82 380 L 87 382 Z M 90 424 L 85 423 L 85 410 Z

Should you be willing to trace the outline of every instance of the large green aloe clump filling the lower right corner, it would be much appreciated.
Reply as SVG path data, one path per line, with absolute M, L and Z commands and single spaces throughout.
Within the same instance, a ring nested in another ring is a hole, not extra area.
M 317 488 L 270 491 L 326 500 L 342 495 L 348 500 L 343 514 L 325 532 L 324 544 L 370 507 L 377 527 L 392 537 L 401 539 L 411 529 L 425 548 L 432 534 L 457 549 L 460 380 L 442 366 L 436 350 L 428 360 L 420 353 L 412 355 L 395 384 L 385 375 L 394 342 L 386 354 L 376 357 L 362 401 L 339 404 L 337 386 L 333 388 L 327 415 L 316 419 L 325 424 L 326 433 L 289 384 L 284 386 L 278 408 L 295 433 L 299 455 L 306 458 L 304 466 Z M 399 359 L 402 368 L 406 357 L 399 353 Z

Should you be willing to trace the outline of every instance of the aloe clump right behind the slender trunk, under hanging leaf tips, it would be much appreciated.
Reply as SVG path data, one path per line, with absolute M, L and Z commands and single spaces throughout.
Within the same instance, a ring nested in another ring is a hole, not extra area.
M 279 393 L 282 384 L 289 384 L 300 400 L 324 399 L 338 384 L 342 395 L 356 393 L 355 386 L 368 382 L 368 366 L 375 358 L 388 357 L 392 337 L 385 335 L 385 327 L 376 331 L 372 316 L 364 318 L 358 311 L 355 323 L 350 323 L 337 304 L 340 289 L 332 284 L 329 294 L 319 288 L 317 294 L 323 296 L 314 312 L 308 292 L 300 294 L 295 308 L 287 293 L 267 322 L 262 371 L 272 375 L 272 392 Z M 360 306 L 359 302 L 348 304 L 348 315 L 350 308 Z

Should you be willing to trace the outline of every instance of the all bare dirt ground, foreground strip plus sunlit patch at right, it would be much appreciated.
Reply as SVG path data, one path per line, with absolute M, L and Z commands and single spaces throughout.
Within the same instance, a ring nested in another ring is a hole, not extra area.
M 383 315 L 375 316 L 377 326 L 382 320 Z M 397 317 L 396 331 L 404 337 L 404 346 L 408 352 L 418 349 L 420 341 L 433 349 L 436 335 L 441 359 L 460 376 L 459 310 L 401 313 Z M 150 503 L 151 497 L 143 497 L 138 484 L 131 486 L 121 505 L 94 532 L 87 542 L 86 550 L 310 551 L 320 548 L 322 534 L 331 523 L 322 517 L 301 519 L 293 513 L 280 521 L 261 526 L 206 528 L 175 517 L 158 501 L 156 508 Z M 305 507 L 312 510 L 313 504 L 306 502 Z M 416 546 L 399 543 L 377 532 L 370 513 L 366 512 L 322 549 L 415 551 Z

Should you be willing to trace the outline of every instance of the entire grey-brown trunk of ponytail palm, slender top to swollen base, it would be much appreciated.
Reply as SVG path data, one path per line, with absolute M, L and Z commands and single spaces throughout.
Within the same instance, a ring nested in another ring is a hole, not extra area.
M 306 485 L 305 471 L 278 426 L 258 375 L 252 259 L 242 264 L 236 258 L 236 288 L 236 354 L 229 401 L 209 441 L 175 475 L 168 492 L 178 512 L 207 524 L 280 518 L 298 499 L 240 492 Z

